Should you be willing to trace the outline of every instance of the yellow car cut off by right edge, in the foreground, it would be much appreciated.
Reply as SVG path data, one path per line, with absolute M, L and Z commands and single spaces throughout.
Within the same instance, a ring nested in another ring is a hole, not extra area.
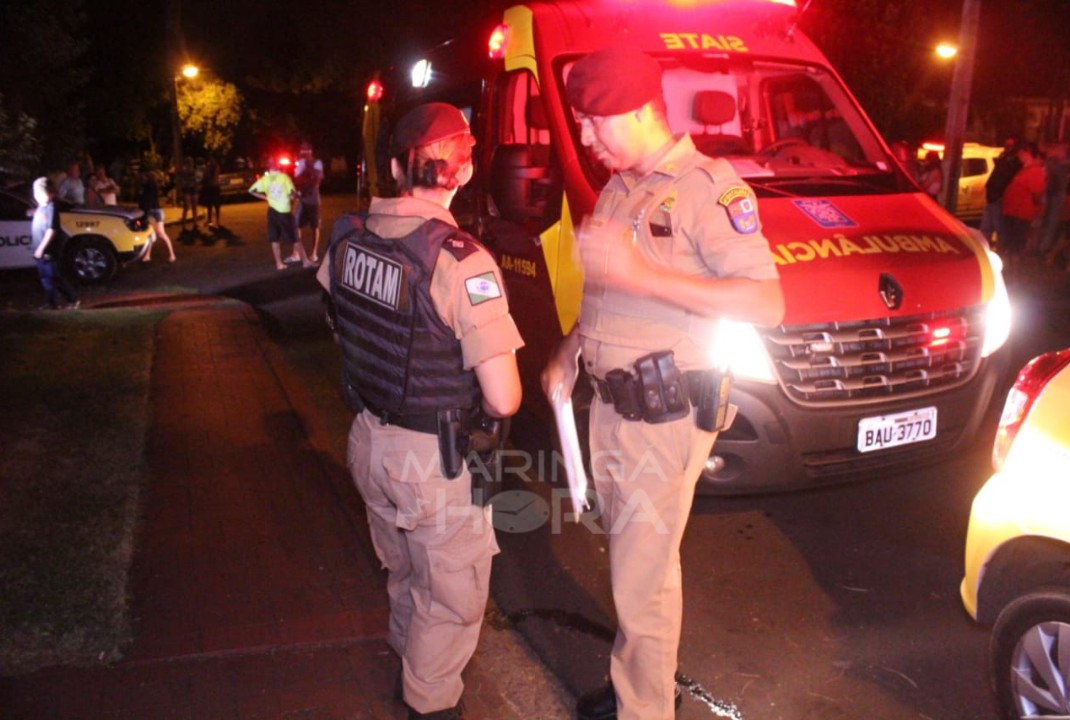
M 994 624 L 1006 718 L 1070 717 L 1070 349 L 1034 358 L 1008 394 L 995 474 L 974 499 L 962 601 Z

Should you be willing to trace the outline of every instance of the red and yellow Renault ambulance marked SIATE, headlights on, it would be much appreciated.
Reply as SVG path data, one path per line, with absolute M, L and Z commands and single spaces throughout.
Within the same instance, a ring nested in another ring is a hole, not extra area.
M 565 78 L 613 44 L 661 63 L 673 131 L 753 187 L 788 306 L 771 330 L 724 323 L 739 412 L 705 493 L 938 460 L 994 427 L 991 400 L 1006 386 L 997 257 L 906 175 L 797 15 L 794 0 L 518 4 L 496 27 L 474 25 L 482 41 L 383 72 L 366 109 L 364 177 L 380 193 L 389 173 L 374 150 L 393 119 L 430 101 L 470 117 L 476 177 L 454 210 L 502 265 L 537 407 L 538 372 L 579 308 L 574 224 L 607 181 L 580 144 Z

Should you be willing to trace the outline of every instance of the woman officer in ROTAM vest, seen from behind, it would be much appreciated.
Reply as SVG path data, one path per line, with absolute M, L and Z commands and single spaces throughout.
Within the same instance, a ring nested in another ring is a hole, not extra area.
M 349 466 L 388 570 L 391 646 L 409 718 L 460 717 L 498 543 L 463 462 L 473 416 L 520 404 L 509 315 L 492 256 L 449 204 L 472 177 L 464 116 L 422 105 L 397 124 L 401 197 L 343 215 L 317 277 L 330 290 L 347 399 Z

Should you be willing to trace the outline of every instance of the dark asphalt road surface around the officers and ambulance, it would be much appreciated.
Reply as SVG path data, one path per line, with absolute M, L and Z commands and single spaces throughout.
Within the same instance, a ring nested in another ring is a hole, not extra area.
M 328 223 L 353 208 L 325 201 Z M 230 233 L 179 236 L 179 262 L 128 267 L 90 302 L 133 292 L 207 292 L 254 305 L 328 422 L 338 413 L 337 350 L 322 324 L 311 271 L 274 270 L 263 205 L 225 206 Z M 1070 344 L 1060 278 L 1015 290 L 1015 364 Z M 0 305 L 39 304 L 31 274 L 0 277 Z M 334 409 L 334 410 L 332 410 Z M 552 509 L 548 428 L 521 415 L 510 482 Z M 338 442 L 341 442 L 341 432 Z M 526 455 L 521 455 L 521 453 Z M 969 502 L 988 448 L 924 472 L 821 491 L 699 497 L 684 542 L 681 671 L 696 683 L 681 717 L 750 720 L 978 720 L 995 717 L 987 631 L 961 608 L 958 584 Z M 507 523 L 506 523 L 507 524 Z M 613 614 L 603 537 L 594 524 L 500 524 L 499 607 L 572 692 L 602 679 Z M 704 694 L 705 693 L 705 694 Z

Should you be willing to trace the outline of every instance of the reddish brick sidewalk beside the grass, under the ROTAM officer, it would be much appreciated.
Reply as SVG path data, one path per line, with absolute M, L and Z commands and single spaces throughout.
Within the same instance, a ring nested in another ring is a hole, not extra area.
M 0 678 L 0 718 L 404 718 L 385 575 L 333 449 L 337 423 L 251 308 L 172 310 L 152 408 L 133 646 L 111 667 Z M 470 719 L 570 717 L 504 622 L 485 623 L 465 685 Z

